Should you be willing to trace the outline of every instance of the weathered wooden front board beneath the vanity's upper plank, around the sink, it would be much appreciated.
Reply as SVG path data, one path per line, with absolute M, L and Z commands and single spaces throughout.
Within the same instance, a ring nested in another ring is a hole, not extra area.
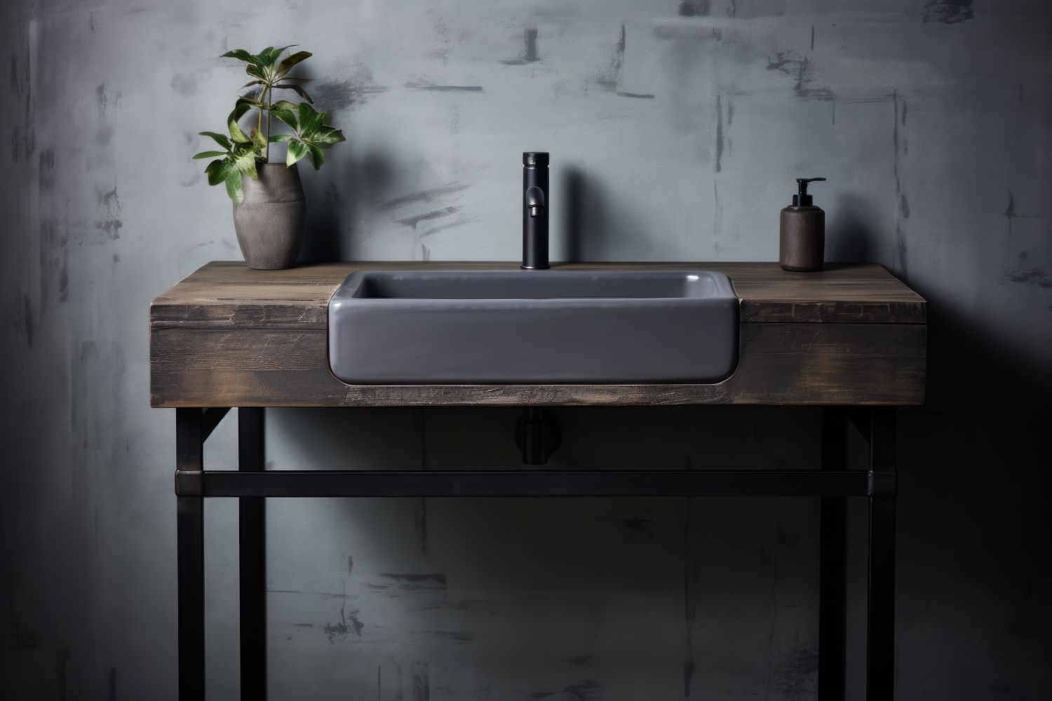
M 155 407 L 851 405 L 924 403 L 924 325 L 742 325 L 713 385 L 346 385 L 321 330 L 155 329 Z

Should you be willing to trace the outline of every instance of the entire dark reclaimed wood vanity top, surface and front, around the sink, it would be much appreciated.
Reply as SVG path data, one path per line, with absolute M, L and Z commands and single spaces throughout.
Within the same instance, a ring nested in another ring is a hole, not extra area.
M 502 270 L 518 263 L 358 262 L 250 270 L 209 263 L 150 305 L 150 403 L 237 406 L 913 405 L 927 308 L 875 264 L 574 263 L 563 270 L 724 272 L 741 301 L 739 368 L 712 385 L 346 385 L 328 370 L 329 297 L 358 270 Z

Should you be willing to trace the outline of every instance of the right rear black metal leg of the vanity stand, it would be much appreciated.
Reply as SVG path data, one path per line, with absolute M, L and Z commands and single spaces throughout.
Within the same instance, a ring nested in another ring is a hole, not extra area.
M 847 415 L 843 409 L 822 410 L 822 469 L 847 470 Z M 822 497 L 821 572 L 818 589 L 818 698 L 844 698 L 846 651 L 847 503 L 844 497 Z

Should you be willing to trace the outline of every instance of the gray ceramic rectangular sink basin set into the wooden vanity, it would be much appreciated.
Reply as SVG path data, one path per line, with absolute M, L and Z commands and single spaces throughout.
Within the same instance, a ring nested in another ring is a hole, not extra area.
M 356 272 L 328 333 L 353 385 L 715 383 L 737 364 L 737 297 L 704 270 Z

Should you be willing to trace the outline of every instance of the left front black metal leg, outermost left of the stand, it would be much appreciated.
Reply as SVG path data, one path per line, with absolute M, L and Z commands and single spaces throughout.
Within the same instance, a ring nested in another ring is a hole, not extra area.
M 176 410 L 176 470 L 203 469 L 200 409 Z M 204 698 L 204 499 L 176 499 L 179 589 L 179 700 Z

